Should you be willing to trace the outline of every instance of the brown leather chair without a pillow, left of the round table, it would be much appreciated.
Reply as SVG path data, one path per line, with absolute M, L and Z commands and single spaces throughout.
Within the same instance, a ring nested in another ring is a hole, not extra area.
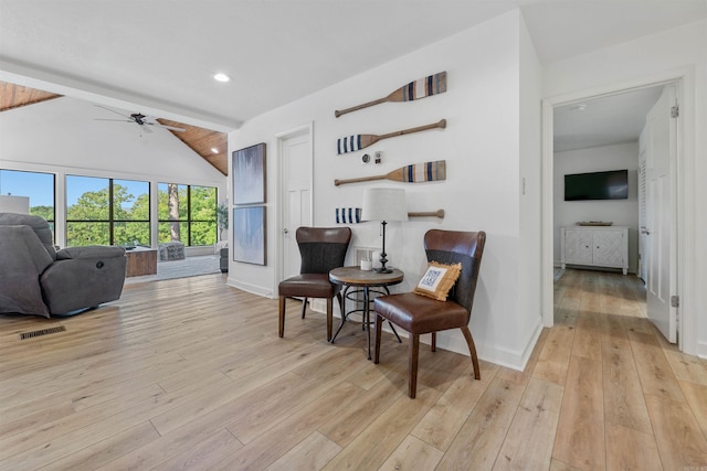
M 327 341 L 331 340 L 334 297 L 342 309 L 341 286 L 329 281 L 329 271 L 344 266 L 346 251 L 351 242 L 349 227 L 299 227 L 295 234 L 302 265 L 299 275 L 279 282 L 279 336 L 285 334 L 286 298 L 304 298 L 302 319 L 305 318 L 308 298 L 327 300 Z

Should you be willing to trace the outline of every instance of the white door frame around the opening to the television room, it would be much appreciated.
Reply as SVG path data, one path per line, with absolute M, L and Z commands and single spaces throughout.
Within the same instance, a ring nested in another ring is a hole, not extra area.
M 677 86 L 680 113 L 677 129 L 677 292 L 678 308 L 678 347 L 680 351 L 697 354 L 697 276 L 695 221 L 697 205 L 695 201 L 695 71 L 685 67 L 667 71 L 648 77 L 614 83 L 593 88 L 550 96 L 542 99 L 542 222 L 541 222 L 541 307 L 545 327 L 555 324 L 553 293 L 553 124 L 556 107 L 573 103 L 618 95 L 633 89 L 675 83 Z

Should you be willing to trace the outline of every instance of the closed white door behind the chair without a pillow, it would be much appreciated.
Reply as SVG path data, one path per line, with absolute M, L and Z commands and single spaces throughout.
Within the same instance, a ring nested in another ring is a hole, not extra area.
M 281 138 L 282 247 L 281 279 L 299 274 L 299 248 L 295 232 L 312 225 L 312 142 L 309 128 Z

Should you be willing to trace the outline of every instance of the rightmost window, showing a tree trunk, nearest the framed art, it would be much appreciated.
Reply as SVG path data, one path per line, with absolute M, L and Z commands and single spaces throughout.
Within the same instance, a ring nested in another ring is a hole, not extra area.
M 217 189 L 178 183 L 159 183 L 158 238 L 187 246 L 217 243 Z

